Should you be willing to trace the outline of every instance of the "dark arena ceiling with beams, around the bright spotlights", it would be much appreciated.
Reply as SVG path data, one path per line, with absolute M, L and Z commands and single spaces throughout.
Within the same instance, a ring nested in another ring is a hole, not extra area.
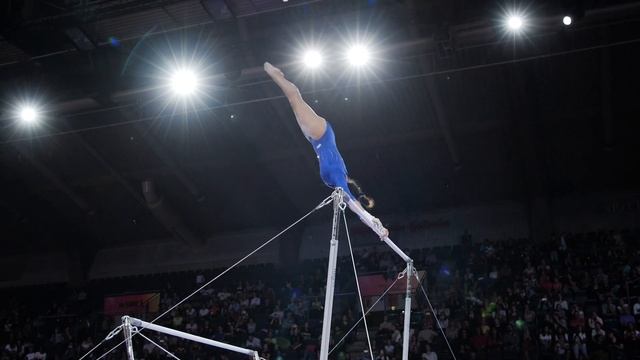
M 315 206 L 329 189 L 266 60 L 332 122 L 382 217 L 638 190 L 640 2 L 521 8 L 530 26 L 513 37 L 493 1 L 3 1 L 7 251 L 202 238 Z M 356 33 L 378 49 L 370 71 L 336 55 L 310 77 L 293 61 L 301 44 L 338 54 Z M 176 104 L 158 76 L 183 58 L 210 86 Z M 25 97 L 46 104 L 42 126 L 12 118 Z M 145 180 L 169 223 L 149 209 Z

